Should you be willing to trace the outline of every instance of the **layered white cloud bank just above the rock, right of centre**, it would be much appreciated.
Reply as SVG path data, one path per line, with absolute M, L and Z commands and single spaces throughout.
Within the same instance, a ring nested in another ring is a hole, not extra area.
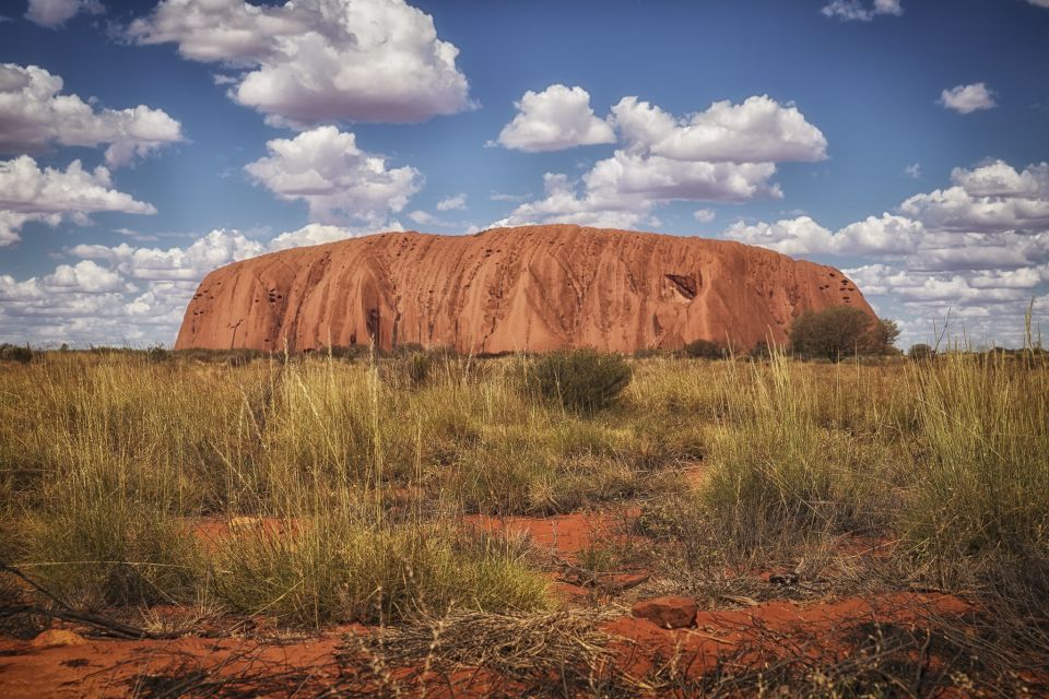
M 630 227 L 652 222 L 653 209 L 671 201 L 779 199 L 782 191 L 771 181 L 777 162 L 826 157 L 823 133 L 797 107 L 765 95 L 739 105 L 717 102 L 682 119 L 624 97 L 610 121 L 624 147 L 594 163 L 580 181 L 547 173 L 545 197 L 498 223 Z

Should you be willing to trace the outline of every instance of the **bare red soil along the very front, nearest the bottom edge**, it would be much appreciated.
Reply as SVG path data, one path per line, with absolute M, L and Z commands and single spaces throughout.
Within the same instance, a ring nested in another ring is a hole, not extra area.
M 614 644 L 616 662 L 636 678 L 674 657 L 686 659 L 689 674 L 698 676 L 712 668 L 719 657 L 753 641 L 758 630 L 797 636 L 799 641 L 815 638 L 824 647 L 837 644 L 842 650 L 848 641 L 838 633 L 847 624 L 870 620 L 921 627 L 929 614 L 950 617 L 969 611 L 970 605 L 958 597 L 899 593 L 809 605 L 769 602 L 740 611 L 700 611 L 696 628 L 691 629 L 662 629 L 629 616 L 613 619 L 603 629 L 621 639 Z M 264 674 L 274 668 L 286 675 L 287 684 L 282 690 L 302 684 L 306 696 L 311 696 L 335 682 L 354 677 L 343 674 L 335 654 L 346 633 L 362 631 L 346 627 L 288 642 L 195 637 L 145 641 L 85 639 L 82 644 L 45 648 L 33 641 L 0 638 L 0 696 L 123 697 L 131 694 L 135 677 L 140 682 L 161 682 L 176 671 L 182 676 L 209 670 L 212 676 L 236 678 L 243 673 Z M 491 682 L 485 676 L 483 683 L 473 685 L 465 694 L 457 689 L 456 696 L 484 696 L 482 688 Z

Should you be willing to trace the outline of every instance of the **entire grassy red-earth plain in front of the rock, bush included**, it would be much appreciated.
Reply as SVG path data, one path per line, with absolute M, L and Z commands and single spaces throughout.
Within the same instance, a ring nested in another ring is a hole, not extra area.
M 767 354 L 9 348 L 4 694 L 1049 691 L 1042 353 Z

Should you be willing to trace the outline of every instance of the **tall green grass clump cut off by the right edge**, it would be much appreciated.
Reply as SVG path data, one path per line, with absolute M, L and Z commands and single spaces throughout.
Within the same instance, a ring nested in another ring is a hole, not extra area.
M 911 369 L 921 429 L 904 529 L 941 571 L 1047 595 L 1049 367 L 1029 362 L 955 353 Z

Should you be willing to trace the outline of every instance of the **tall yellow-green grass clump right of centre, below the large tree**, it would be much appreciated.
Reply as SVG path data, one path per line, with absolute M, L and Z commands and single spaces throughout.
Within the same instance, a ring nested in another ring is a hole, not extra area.
M 717 433 L 702 499 L 731 543 L 752 548 L 785 531 L 835 534 L 887 524 L 894 454 L 876 430 L 821 425 L 824 387 L 781 354 L 767 366 L 732 367 L 723 380 L 746 408 L 730 412 Z

